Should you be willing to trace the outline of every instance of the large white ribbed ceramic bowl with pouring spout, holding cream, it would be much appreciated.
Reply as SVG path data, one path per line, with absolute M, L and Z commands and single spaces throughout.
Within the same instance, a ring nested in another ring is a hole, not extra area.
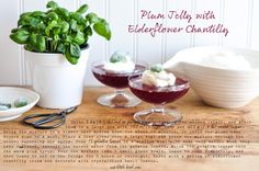
M 196 64 L 201 56 L 222 52 L 241 55 L 251 69 L 230 70 Z M 240 107 L 259 95 L 259 52 L 226 47 L 188 48 L 176 54 L 164 68 L 188 79 L 202 100 L 213 106 Z

